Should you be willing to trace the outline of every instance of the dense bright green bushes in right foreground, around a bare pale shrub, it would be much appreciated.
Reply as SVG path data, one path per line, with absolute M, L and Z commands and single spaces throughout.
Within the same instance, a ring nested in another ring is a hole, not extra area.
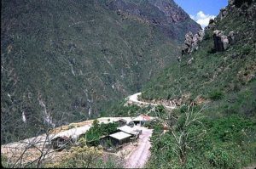
M 177 121 L 167 120 L 172 121 L 169 122 L 172 125 L 166 133 L 161 123 L 154 126 L 148 167 L 241 168 L 255 162 L 256 122 L 253 119 L 240 115 L 202 118 L 195 110 L 177 115 Z

